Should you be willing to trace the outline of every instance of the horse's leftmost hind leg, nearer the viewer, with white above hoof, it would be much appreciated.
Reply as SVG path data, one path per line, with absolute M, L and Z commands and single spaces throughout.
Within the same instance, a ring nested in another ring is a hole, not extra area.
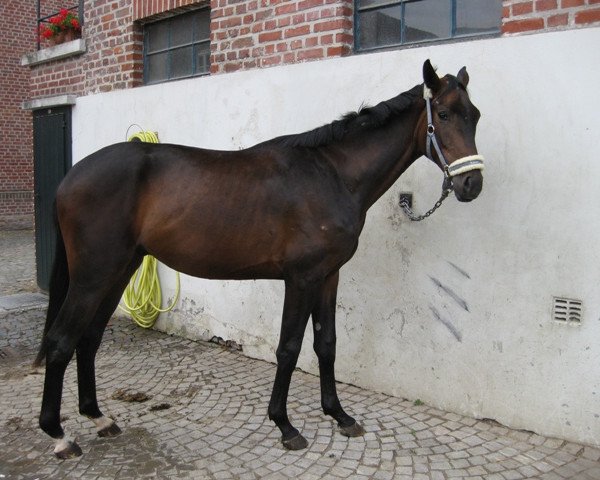
M 106 290 L 87 290 L 71 282 L 69 292 L 54 324 L 46 335 L 46 374 L 40 412 L 41 429 L 56 440 L 59 458 L 81 455 L 81 449 L 60 424 L 60 404 L 67 365 L 94 317 Z

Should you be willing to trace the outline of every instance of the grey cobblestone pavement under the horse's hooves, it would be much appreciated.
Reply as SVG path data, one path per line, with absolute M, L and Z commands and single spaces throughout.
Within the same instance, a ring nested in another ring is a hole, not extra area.
M 63 425 L 83 456 L 59 461 L 37 427 L 43 372 L 30 367 L 44 299 L 2 297 L 3 288 L 0 479 L 600 479 L 598 449 L 340 384 L 345 407 L 367 431 L 348 439 L 320 410 L 318 378 L 300 371 L 288 410 L 309 447 L 286 451 L 266 415 L 274 365 L 124 318 L 111 320 L 97 359 L 101 405 L 123 434 L 99 438 L 77 414 L 70 365 Z

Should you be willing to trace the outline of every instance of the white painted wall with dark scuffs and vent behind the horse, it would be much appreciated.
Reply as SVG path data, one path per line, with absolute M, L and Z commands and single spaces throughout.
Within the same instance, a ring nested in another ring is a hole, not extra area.
M 426 58 L 441 73 L 467 65 L 483 113 L 483 193 L 407 221 L 399 191 L 415 192 L 420 211 L 440 192 L 440 172 L 421 159 L 372 208 L 342 269 L 338 379 L 600 445 L 599 44 L 600 29 L 590 28 L 88 96 L 73 111 L 74 157 L 124 140 L 131 123 L 163 142 L 247 147 L 407 90 L 421 82 Z M 173 275 L 162 273 L 172 295 Z M 584 302 L 580 326 L 551 320 L 553 296 Z M 278 282 L 184 276 L 182 300 L 158 328 L 233 339 L 246 355 L 274 361 L 282 300 Z M 309 328 L 299 365 L 316 372 L 311 345 Z

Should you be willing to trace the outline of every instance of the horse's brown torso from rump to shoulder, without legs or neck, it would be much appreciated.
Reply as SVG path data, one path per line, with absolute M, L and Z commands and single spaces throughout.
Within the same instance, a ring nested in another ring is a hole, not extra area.
M 59 217 L 97 248 L 108 238 L 195 276 L 281 278 L 294 259 L 358 236 L 347 192 L 313 154 L 117 144 L 73 168 Z

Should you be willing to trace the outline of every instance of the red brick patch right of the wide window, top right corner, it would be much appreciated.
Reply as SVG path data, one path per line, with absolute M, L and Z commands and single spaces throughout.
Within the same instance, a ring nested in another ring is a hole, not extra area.
M 504 0 L 503 7 L 505 34 L 600 25 L 600 0 Z

